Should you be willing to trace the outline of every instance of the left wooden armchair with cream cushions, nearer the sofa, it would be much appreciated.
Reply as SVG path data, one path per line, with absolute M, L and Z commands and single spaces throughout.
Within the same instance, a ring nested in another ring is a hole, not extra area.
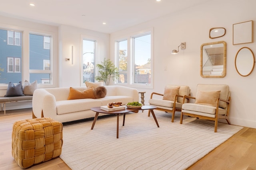
M 175 111 L 181 111 L 183 96 L 185 95 L 190 95 L 188 86 L 167 85 L 164 88 L 164 94 L 153 92 L 148 103 L 156 106 L 156 110 L 172 113 L 172 122 L 174 122 Z M 188 102 L 188 100 L 185 102 Z M 148 116 L 150 116 L 150 111 L 148 111 Z

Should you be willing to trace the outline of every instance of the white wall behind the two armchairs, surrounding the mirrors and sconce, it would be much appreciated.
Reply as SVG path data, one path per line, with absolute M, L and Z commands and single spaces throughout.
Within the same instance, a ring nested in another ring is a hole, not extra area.
M 218 3 L 219 2 L 219 3 Z M 254 43 L 232 45 L 234 23 L 254 21 Z M 148 103 L 152 92 L 164 92 L 166 84 L 188 85 L 194 96 L 197 84 L 228 84 L 231 91 L 230 121 L 235 125 L 256 128 L 256 68 L 246 77 L 236 72 L 234 59 L 241 47 L 249 47 L 256 57 L 256 1 L 212 0 L 168 16 L 148 21 L 110 35 L 110 56 L 114 56 L 114 40 L 127 33 L 154 27 L 154 89 L 146 91 Z M 226 35 L 209 38 L 212 27 L 224 27 Z M 227 74 L 224 78 L 200 76 L 200 46 L 203 43 L 226 41 Z M 186 49 L 176 55 L 181 42 Z M 167 68 L 164 71 L 164 68 Z

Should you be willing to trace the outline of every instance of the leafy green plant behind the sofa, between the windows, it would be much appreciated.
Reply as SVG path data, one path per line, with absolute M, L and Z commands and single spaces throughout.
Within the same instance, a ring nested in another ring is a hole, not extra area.
M 103 81 L 108 86 L 111 79 L 113 81 L 118 79 L 118 68 L 110 59 L 105 58 L 101 64 L 96 64 L 96 66 L 99 68 L 100 76 L 96 76 L 95 80 Z

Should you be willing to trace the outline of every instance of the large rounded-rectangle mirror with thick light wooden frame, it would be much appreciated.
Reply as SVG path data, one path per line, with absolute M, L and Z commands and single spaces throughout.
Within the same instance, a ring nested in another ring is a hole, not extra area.
M 218 41 L 201 45 L 200 75 L 208 78 L 226 76 L 226 42 Z

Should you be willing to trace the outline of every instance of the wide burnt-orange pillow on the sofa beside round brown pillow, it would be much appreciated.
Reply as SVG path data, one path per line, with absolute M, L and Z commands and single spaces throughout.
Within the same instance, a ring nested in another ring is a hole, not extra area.
M 69 88 L 68 100 L 74 99 L 96 99 L 94 96 L 94 88 L 88 88 L 84 91 L 77 90 L 75 88 Z

